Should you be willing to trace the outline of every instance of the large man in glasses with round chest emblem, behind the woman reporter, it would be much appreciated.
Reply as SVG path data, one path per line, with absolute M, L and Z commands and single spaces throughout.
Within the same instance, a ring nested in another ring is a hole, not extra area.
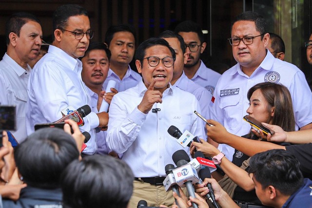
M 242 13 L 232 23 L 229 43 L 237 64 L 220 77 L 211 114 L 238 136 L 250 131 L 251 126 L 242 119 L 249 107 L 247 92 L 260 82 L 286 86 L 292 95 L 296 130 L 312 128 L 312 93 L 306 78 L 293 64 L 273 57 L 266 49 L 269 38 L 265 19 L 255 12 Z M 218 149 L 232 161 L 232 147 L 220 144 Z

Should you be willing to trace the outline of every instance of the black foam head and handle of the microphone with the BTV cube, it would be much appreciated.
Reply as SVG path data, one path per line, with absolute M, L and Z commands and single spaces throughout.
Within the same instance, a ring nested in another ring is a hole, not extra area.
M 186 153 L 186 151 L 184 150 L 178 150 L 176 151 L 173 155 L 172 155 L 172 159 L 173 161 L 175 162 L 176 166 L 177 167 L 181 167 L 181 166 L 184 166 L 184 165 L 189 165 L 189 166 L 192 166 L 190 164 L 188 164 L 191 160 L 190 160 L 190 157 L 189 155 Z M 193 168 L 193 166 L 192 166 Z M 195 171 L 196 172 L 196 171 Z M 189 174 L 189 173 L 187 173 Z M 191 173 L 190 173 L 191 174 Z M 192 173 L 194 174 L 194 173 Z M 197 174 L 197 173 L 196 173 Z M 192 181 L 188 180 L 186 182 L 184 182 L 185 186 L 186 186 L 186 189 L 189 193 L 190 196 L 196 198 L 195 196 L 195 191 L 194 191 L 194 187 L 193 187 L 193 184 L 192 184 Z M 193 208 L 198 208 L 197 204 L 192 202 L 192 205 L 193 205 Z

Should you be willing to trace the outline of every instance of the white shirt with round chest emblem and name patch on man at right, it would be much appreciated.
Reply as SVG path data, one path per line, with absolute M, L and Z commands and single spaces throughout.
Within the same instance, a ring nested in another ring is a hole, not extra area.
M 274 58 L 269 52 L 251 76 L 236 64 L 223 73 L 215 88 L 212 119 L 220 122 L 228 132 L 238 136 L 247 134 L 251 126 L 243 120 L 249 107 L 248 90 L 260 82 L 281 83 L 292 95 L 296 130 L 312 122 L 312 93 L 306 77 L 295 65 Z M 232 160 L 234 149 L 220 144 L 218 149 Z

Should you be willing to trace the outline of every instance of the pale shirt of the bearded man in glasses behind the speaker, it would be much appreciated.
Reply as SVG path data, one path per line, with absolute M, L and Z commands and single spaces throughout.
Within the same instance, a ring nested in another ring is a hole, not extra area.
M 204 62 L 200 60 L 200 66 L 191 80 L 196 84 L 206 88 L 212 95 L 214 95 L 215 86 L 220 76 L 221 75 L 219 73 L 207 68 Z

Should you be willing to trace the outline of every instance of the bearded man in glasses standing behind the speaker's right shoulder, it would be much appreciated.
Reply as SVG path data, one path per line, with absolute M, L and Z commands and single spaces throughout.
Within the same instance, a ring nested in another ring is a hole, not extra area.
M 200 26 L 193 21 L 184 21 L 176 26 L 175 32 L 182 36 L 186 46 L 186 53 L 189 55 L 187 63 L 184 64 L 185 75 L 206 88 L 212 95 L 220 74 L 205 66 L 200 60 L 200 55 L 205 51 L 207 43 L 204 42 L 204 35 Z

